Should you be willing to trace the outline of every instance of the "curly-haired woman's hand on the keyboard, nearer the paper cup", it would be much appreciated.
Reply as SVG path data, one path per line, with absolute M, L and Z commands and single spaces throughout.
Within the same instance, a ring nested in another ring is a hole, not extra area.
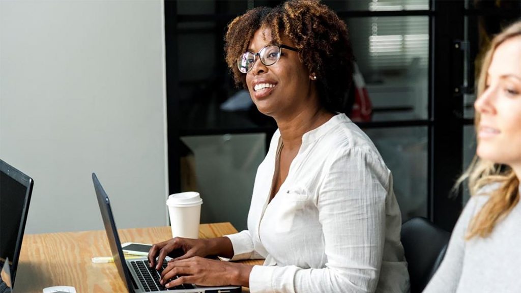
M 163 265 L 163 261 L 168 254 L 175 250 L 182 250 L 183 254 L 173 260 L 183 260 L 191 257 L 206 257 L 211 252 L 208 251 L 210 245 L 208 245 L 207 239 L 190 239 L 176 237 L 167 241 L 156 243 L 148 251 L 148 263 L 150 267 L 154 266 L 155 259 L 157 259 L 156 270 L 159 270 Z M 179 251 L 180 252 L 180 251 Z

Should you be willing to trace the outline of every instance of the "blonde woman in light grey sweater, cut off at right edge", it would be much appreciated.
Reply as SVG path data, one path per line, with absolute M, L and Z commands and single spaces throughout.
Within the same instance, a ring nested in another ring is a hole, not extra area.
M 424 292 L 521 288 L 521 21 L 497 35 L 483 61 L 476 108 L 477 157 L 470 198 L 445 258 Z

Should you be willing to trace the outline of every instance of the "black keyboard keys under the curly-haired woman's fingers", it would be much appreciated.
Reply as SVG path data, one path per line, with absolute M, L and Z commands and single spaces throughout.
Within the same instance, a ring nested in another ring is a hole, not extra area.
M 161 272 L 166 267 L 166 262 L 163 262 L 163 267 L 161 270 L 156 271 L 154 267 L 148 267 L 148 261 L 130 261 L 130 264 L 132 265 L 132 268 L 134 269 L 135 273 L 138 275 L 139 282 L 143 286 L 146 292 L 151 291 L 171 291 L 171 290 L 179 290 L 179 289 L 193 289 L 194 286 L 191 284 L 182 284 L 176 287 L 166 288 L 165 286 L 161 285 L 159 281 L 161 280 Z M 170 282 L 171 280 L 177 279 L 178 276 L 175 276 L 168 280 Z M 168 283 L 167 282 L 167 283 Z M 166 284 L 166 283 L 165 283 Z

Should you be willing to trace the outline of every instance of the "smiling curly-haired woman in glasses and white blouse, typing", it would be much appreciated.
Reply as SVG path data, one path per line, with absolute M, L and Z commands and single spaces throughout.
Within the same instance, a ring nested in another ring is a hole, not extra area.
M 148 259 L 183 257 L 169 284 L 242 285 L 251 292 L 403 292 L 408 274 L 392 177 L 369 138 L 335 111 L 352 79 L 345 24 L 317 1 L 255 8 L 226 34 L 235 81 L 275 132 L 258 167 L 248 230 L 158 243 Z M 264 266 L 203 259 L 264 258 Z

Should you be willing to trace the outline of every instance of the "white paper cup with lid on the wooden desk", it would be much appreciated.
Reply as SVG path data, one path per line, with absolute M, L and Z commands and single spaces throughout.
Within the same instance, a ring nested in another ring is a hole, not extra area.
M 174 193 L 168 197 L 166 205 L 170 215 L 172 238 L 199 238 L 202 204 L 199 192 Z

